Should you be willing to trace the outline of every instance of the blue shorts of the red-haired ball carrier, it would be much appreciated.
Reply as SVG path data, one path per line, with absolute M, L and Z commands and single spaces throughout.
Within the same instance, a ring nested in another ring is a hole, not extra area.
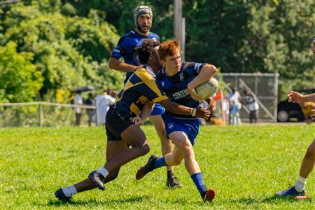
M 182 119 L 174 118 L 167 115 L 166 113 L 162 115 L 165 123 L 165 130 L 167 132 L 167 137 L 172 132 L 180 131 L 187 134 L 191 145 L 195 145 L 196 138 L 199 132 L 200 119 Z

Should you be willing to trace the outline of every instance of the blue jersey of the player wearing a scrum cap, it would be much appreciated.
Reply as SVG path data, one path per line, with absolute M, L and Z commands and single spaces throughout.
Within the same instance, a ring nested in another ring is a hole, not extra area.
M 153 41 L 160 41 L 160 36 L 158 36 L 158 34 L 154 34 L 153 32 L 150 32 L 148 36 L 143 36 L 138 34 L 136 31 L 131 30 L 128 34 L 120 37 L 116 48 L 113 50 L 113 54 L 111 54 L 111 57 L 115 57 L 116 59 L 123 57 L 127 64 L 139 66 L 140 64 L 137 59 L 137 55 L 134 52 L 134 48 L 141 44 L 141 40 L 143 38 L 152 38 Z M 127 82 L 130 76 L 132 76 L 132 72 L 127 72 L 124 83 Z

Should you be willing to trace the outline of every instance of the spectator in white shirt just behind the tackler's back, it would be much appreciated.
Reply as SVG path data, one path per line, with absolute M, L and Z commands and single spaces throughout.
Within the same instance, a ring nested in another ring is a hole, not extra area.
M 115 102 L 115 99 L 107 94 L 107 91 L 104 90 L 102 94 L 97 95 L 96 104 L 97 104 L 97 121 L 99 124 L 105 124 L 106 113 Z

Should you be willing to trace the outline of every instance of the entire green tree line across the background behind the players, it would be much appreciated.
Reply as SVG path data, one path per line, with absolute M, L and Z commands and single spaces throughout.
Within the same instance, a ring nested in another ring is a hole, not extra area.
M 134 27 L 133 10 L 153 8 L 151 31 L 173 38 L 174 1 L 22 1 L 0 7 L 0 100 L 51 99 L 74 86 L 122 87 L 107 67 L 119 36 Z M 186 60 L 221 72 L 280 74 L 279 96 L 314 87 L 315 2 L 183 0 Z

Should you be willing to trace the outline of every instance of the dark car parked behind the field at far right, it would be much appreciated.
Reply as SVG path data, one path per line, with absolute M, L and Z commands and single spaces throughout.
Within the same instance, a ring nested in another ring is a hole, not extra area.
M 301 94 L 311 94 L 315 92 L 315 89 L 301 90 Z M 304 121 L 304 114 L 302 112 L 301 104 L 294 104 L 286 99 L 278 104 L 278 122 L 289 122 L 290 120 L 297 119 L 298 121 Z

